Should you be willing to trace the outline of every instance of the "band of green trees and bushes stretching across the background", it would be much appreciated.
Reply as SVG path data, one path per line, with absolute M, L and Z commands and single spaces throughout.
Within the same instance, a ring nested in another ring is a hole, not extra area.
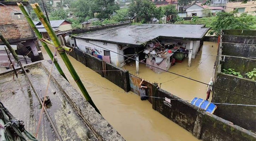
M 38 2 L 42 8 L 42 1 L 30 0 L 30 3 L 34 2 Z M 179 1 L 179 5 L 191 2 L 191 0 Z M 209 10 L 204 10 L 204 15 L 208 17 L 195 16 L 191 20 L 183 20 L 178 16 L 175 5 L 168 4 L 157 8 L 149 0 L 132 1 L 129 8 L 120 8 L 121 4 L 124 5 L 122 1 L 117 3 L 115 0 L 62 0 L 57 4 L 59 8 L 53 10 L 52 1 L 44 2 L 50 20 L 66 19 L 72 23 L 73 28 L 81 28 L 81 23 L 91 18 L 103 19 L 103 22 L 92 23 L 92 25 L 102 25 L 123 22 L 135 16 L 136 23 L 150 23 L 153 18 L 159 19 L 159 23 L 162 23 L 161 18 L 167 16 L 167 24 L 206 24 L 206 27 L 211 27 L 209 32 L 211 35 L 219 35 L 221 29 L 256 29 L 256 16 L 247 13 L 238 16 L 237 11 L 218 12 L 216 16 L 212 16 Z M 64 7 L 69 7 L 69 11 L 64 10 Z M 31 8 L 29 11 L 31 17 L 37 18 Z M 70 18 L 69 13 L 75 18 Z

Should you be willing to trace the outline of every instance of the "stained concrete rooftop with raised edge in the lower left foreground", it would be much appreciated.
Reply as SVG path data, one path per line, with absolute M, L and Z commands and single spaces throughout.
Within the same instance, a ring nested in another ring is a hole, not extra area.
M 42 98 L 45 93 L 50 64 L 43 60 L 24 65 L 28 76 Z M 19 71 L 19 69 L 17 70 Z M 47 111 L 64 141 L 124 141 L 124 138 L 67 82 L 56 69 L 52 70 L 47 96 L 51 101 Z M 24 121 L 25 129 L 35 134 L 40 103 L 28 77 L 11 70 L 0 73 L 0 101 L 11 114 Z M 58 140 L 46 115 L 43 114 L 38 141 Z

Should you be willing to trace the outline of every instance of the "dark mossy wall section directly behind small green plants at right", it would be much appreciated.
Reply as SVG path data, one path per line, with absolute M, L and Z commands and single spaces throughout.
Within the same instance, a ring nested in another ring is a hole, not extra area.
M 224 57 L 223 57 L 224 58 Z M 225 57 L 225 61 L 221 61 L 221 69 L 233 68 L 236 72 L 245 73 L 253 71 L 256 68 L 256 59 Z

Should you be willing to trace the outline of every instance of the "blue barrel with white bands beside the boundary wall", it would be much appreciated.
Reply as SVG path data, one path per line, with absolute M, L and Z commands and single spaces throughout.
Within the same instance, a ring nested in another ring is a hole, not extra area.
M 204 100 L 202 98 L 197 98 L 197 97 L 193 98 L 190 103 L 201 109 L 206 110 L 210 114 L 213 114 L 213 112 L 217 108 L 217 106 L 214 105 L 213 103 L 210 103 L 207 100 Z

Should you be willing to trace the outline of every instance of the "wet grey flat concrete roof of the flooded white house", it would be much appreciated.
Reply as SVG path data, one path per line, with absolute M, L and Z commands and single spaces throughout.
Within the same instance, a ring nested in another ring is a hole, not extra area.
M 136 24 L 82 33 L 77 37 L 90 41 L 138 46 L 157 37 L 201 40 L 209 29 L 204 27 L 204 24 Z

